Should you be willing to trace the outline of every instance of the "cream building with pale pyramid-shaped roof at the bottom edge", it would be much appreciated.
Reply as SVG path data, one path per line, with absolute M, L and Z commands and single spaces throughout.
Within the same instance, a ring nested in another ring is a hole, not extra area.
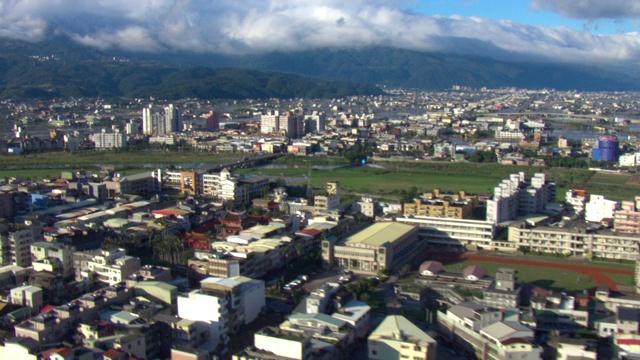
M 437 358 L 437 343 L 403 316 L 390 315 L 369 335 L 368 359 Z

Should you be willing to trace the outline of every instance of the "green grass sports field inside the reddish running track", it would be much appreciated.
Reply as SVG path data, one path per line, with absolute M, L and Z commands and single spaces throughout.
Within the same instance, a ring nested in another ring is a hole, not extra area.
M 465 261 L 464 263 L 445 265 L 444 268 L 446 271 L 462 272 L 462 270 L 469 265 L 480 265 L 484 267 L 487 270 L 487 273 L 491 276 L 495 275 L 498 268 L 508 267 L 510 269 L 515 269 L 518 270 L 518 279 L 520 281 L 536 285 L 547 290 L 582 291 L 590 289 L 596 285 L 596 283 L 586 275 L 569 270 L 549 269 L 544 266 L 534 267 L 515 264 L 509 264 L 506 266 L 505 264 L 496 264 L 484 261 Z

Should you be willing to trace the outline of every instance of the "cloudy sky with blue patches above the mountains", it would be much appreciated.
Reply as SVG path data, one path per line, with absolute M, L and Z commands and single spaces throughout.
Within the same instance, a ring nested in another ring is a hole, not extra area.
M 389 46 L 637 66 L 639 20 L 640 0 L 0 0 L 0 37 L 137 52 Z

